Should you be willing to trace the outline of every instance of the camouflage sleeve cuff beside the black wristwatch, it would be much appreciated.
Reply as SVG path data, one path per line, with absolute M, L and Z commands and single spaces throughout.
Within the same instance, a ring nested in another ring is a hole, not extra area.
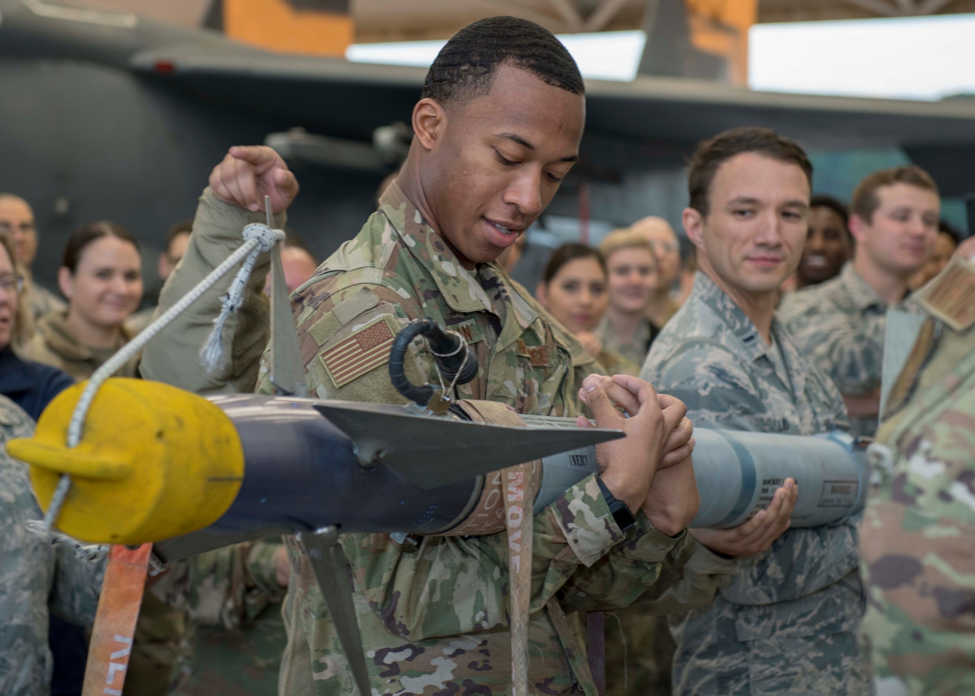
M 617 544 L 638 538 L 643 529 L 641 524 L 649 525 L 639 514 L 637 524 L 624 533 L 609 514 L 609 506 L 595 474 L 566 490 L 549 505 L 549 510 L 562 529 L 569 548 L 586 567 L 602 559 Z

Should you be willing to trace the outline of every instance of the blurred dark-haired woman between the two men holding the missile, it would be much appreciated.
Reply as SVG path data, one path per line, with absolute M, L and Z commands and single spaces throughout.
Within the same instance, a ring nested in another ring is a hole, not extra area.
M 545 265 L 535 297 L 608 374 L 640 372 L 639 365 L 604 346 L 595 332 L 609 300 L 602 253 L 581 244 L 563 245 Z

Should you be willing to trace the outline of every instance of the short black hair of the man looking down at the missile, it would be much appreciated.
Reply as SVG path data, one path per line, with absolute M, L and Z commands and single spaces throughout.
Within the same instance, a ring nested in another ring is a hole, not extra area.
M 450 38 L 427 71 L 422 96 L 445 105 L 484 97 L 504 63 L 573 95 L 585 93 L 578 65 L 555 34 L 527 19 L 489 17 Z

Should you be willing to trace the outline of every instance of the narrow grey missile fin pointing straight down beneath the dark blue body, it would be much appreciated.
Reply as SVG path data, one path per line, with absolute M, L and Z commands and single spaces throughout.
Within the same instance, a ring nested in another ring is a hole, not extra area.
M 322 591 L 326 606 L 329 607 L 331 624 L 338 634 L 345 659 L 352 668 L 352 680 L 359 688 L 360 696 L 370 696 L 369 671 L 366 668 L 366 653 L 363 651 L 363 638 L 356 619 L 356 607 L 352 603 L 352 586 L 345 569 L 348 561 L 338 543 L 338 527 L 332 525 L 316 532 L 298 532 L 298 543 L 304 547 L 312 572 Z

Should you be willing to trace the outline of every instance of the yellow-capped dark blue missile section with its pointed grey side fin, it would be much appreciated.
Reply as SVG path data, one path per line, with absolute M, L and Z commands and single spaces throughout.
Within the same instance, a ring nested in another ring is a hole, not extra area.
M 8 444 L 11 455 L 31 464 L 45 509 L 60 474 L 71 475 L 58 525 L 83 541 L 158 542 L 207 528 L 200 544 L 187 539 L 170 554 L 162 545 L 169 561 L 330 525 L 343 533 L 445 533 L 473 509 L 485 474 L 622 437 L 431 417 L 413 406 L 204 399 L 114 378 L 98 393 L 85 438 L 69 449 L 66 427 L 82 389 L 62 392 L 33 438 Z M 595 460 L 584 464 L 591 469 Z

